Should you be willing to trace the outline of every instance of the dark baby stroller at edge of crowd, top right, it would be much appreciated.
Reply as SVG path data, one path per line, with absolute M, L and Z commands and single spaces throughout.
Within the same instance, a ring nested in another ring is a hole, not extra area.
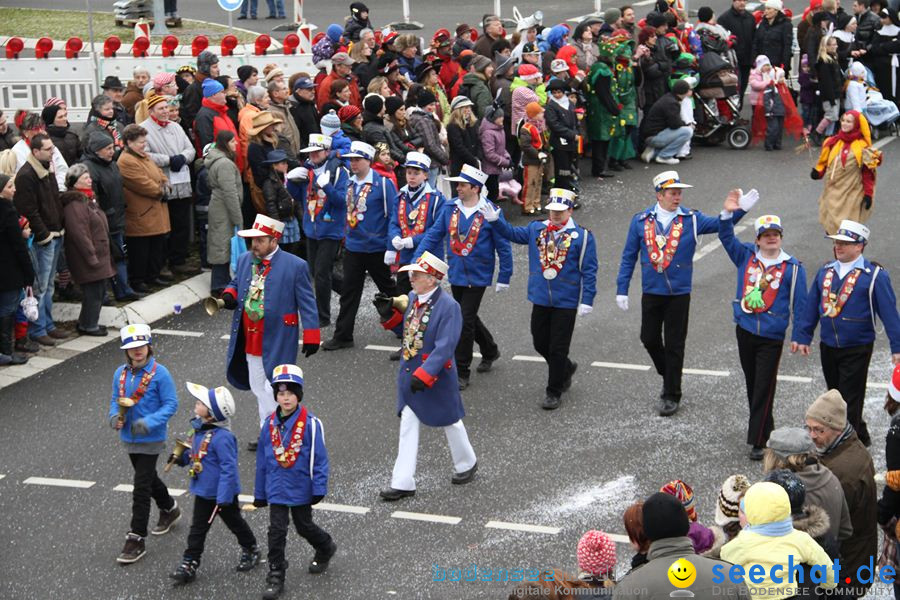
M 738 76 L 730 64 L 715 52 L 700 59 L 700 83 L 696 95 L 703 119 L 694 129 L 694 139 L 703 144 L 728 142 L 735 150 L 750 145 L 750 128 L 740 115 Z

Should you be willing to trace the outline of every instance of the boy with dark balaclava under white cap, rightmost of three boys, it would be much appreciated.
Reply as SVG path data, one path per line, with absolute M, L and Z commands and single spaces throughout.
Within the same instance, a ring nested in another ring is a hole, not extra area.
M 328 493 L 328 451 L 325 430 L 303 400 L 303 371 L 297 365 L 278 365 L 272 373 L 278 408 L 263 423 L 256 451 L 256 489 L 253 505 L 269 506 L 269 575 L 264 600 L 284 590 L 288 563 L 284 545 L 290 519 L 297 533 L 315 548 L 310 573 L 323 573 L 337 552 L 327 531 L 313 523 L 312 505 Z

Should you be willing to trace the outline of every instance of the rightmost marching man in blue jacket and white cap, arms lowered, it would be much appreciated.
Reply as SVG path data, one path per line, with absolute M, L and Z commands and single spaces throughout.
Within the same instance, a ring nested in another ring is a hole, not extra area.
M 869 362 L 875 343 L 875 316 L 881 319 L 891 347 L 891 361 L 900 363 L 900 315 L 886 269 L 863 256 L 869 228 L 844 219 L 834 235 L 836 260 L 816 273 L 806 309 L 800 315 L 791 353 L 808 356 L 816 325 L 819 330 L 822 374 L 828 389 L 840 391 L 847 403 L 847 420 L 860 441 L 872 440 L 863 420 Z

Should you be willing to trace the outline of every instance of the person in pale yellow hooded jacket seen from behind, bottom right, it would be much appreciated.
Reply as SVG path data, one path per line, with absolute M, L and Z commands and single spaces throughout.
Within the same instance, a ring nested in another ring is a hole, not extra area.
M 808 533 L 794 528 L 790 497 L 783 487 L 770 481 L 750 486 L 741 500 L 740 518 L 746 525 L 735 539 L 722 547 L 722 560 L 748 571 L 751 566 L 763 567 L 761 575 L 745 576 L 753 597 L 778 600 L 796 596 L 801 590 L 796 581 L 788 580 L 789 564 L 823 565 L 826 568 L 817 571 L 824 572 L 826 581 L 818 586 L 832 589 L 837 585 L 834 570 L 830 568 L 832 558 Z M 780 582 L 771 577 L 772 569 L 777 574 L 779 567 Z

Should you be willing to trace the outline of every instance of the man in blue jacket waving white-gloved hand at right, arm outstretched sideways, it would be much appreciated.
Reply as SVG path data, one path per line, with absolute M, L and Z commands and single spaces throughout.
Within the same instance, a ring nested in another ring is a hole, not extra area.
M 721 221 L 681 206 L 682 190 L 693 186 L 681 183 L 677 171 L 663 171 L 653 178 L 653 187 L 656 204 L 637 213 L 628 226 L 616 279 L 616 304 L 628 310 L 628 285 L 640 259 L 641 342 L 663 378 L 659 414 L 668 417 L 678 411 L 681 401 L 694 252 L 699 236 L 718 232 Z M 739 204 L 735 223 L 759 200 L 756 190 L 747 194 L 732 190 L 728 196 Z

